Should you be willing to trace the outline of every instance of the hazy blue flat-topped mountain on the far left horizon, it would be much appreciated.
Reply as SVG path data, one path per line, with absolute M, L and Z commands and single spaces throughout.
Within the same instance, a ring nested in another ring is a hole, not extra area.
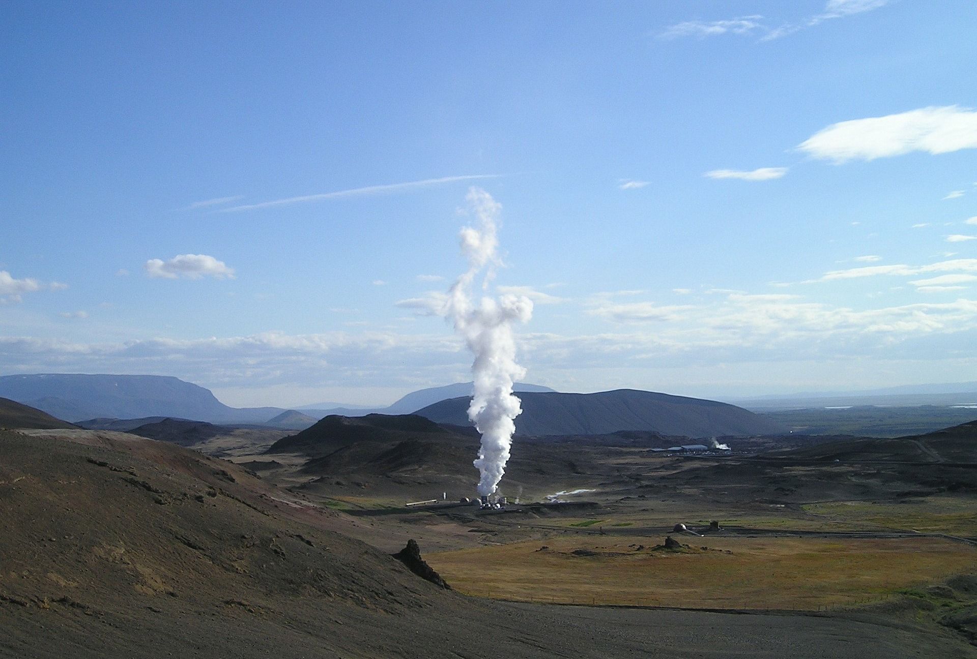
M 264 423 L 283 411 L 229 407 L 203 387 L 157 375 L 7 375 L 0 377 L 0 395 L 71 421 L 163 416 L 211 423 Z

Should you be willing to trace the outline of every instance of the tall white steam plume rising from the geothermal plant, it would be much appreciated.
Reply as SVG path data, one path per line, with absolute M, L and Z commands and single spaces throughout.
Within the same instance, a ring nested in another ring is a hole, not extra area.
M 468 418 L 482 433 L 482 447 L 475 467 L 479 469 L 479 494 L 488 496 L 498 488 L 509 460 L 515 419 L 523 409 L 512 393 L 513 383 L 526 375 L 516 363 L 516 340 L 513 321 L 526 322 L 532 315 L 529 298 L 502 295 L 498 299 L 483 296 L 473 301 L 471 289 L 475 278 L 485 270 L 483 291 L 501 264 L 496 248 L 495 218 L 501 206 L 483 189 L 472 187 L 466 197 L 478 220 L 478 227 L 461 229 L 461 251 L 468 259 L 468 271 L 458 277 L 448 291 L 446 316 L 454 329 L 475 354 L 472 363 L 475 388 L 468 407 Z

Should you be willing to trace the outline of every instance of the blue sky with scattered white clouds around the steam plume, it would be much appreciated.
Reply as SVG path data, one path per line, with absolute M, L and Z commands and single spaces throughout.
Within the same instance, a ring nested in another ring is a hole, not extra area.
M 0 10 L 0 372 L 465 380 L 476 185 L 531 382 L 975 379 L 970 0 L 199 4 Z

